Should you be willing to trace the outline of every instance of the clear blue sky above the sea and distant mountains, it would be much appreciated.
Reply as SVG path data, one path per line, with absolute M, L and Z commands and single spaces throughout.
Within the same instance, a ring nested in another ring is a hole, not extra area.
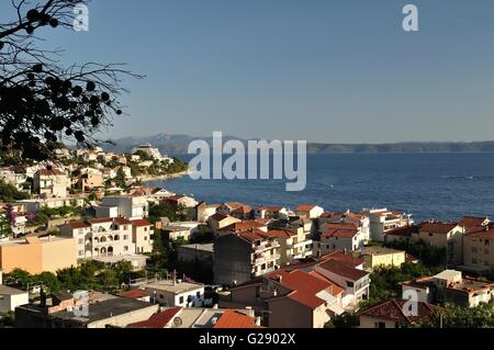
M 89 32 L 56 32 L 67 61 L 147 76 L 110 137 L 494 139 L 492 0 L 93 0 Z

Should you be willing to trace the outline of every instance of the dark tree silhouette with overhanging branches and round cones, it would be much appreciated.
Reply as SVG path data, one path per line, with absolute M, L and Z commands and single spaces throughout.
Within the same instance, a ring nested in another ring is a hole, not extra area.
M 2 0 L 7 1 L 7 0 Z M 42 30 L 72 29 L 87 0 L 11 0 L 16 18 L 0 23 L 0 146 L 23 159 L 46 160 L 60 142 L 90 147 L 96 133 L 122 114 L 123 65 L 64 67 L 61 50 L 41 48 Z

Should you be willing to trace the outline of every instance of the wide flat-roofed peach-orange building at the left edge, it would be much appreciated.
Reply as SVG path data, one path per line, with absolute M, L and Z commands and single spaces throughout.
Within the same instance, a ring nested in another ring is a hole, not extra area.
M 53 236 L 0 240 L 0 270 L 9 273 L 21 269 L 38 274 L 75 267 L 76 246 L 72 238 Z

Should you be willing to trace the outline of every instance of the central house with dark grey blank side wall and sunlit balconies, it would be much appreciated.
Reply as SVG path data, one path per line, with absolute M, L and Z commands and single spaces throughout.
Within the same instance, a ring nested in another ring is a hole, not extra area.
M 260 229 L 220 236 L 214 242 L 214 280 L 235 285 L 280 267 L 280 244 Z

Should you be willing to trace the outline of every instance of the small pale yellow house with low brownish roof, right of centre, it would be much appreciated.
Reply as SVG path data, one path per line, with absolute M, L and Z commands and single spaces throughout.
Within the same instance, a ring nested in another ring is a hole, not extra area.
M 385 247 L 366 247 L 353 251 L 353 257 L 363 259 L 363 269 L 372 271 L 377 268 L 400 268 L 406 262 L 406 252 Z

